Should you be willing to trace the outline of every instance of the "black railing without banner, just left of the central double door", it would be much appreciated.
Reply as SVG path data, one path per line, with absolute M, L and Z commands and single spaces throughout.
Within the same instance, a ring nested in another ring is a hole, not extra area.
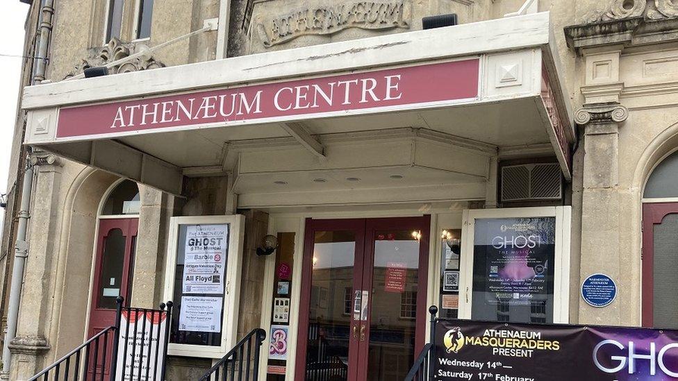
M 257 381 L 259 349 L 266 339 L 266 331 L 256 328 L 243 337 L 199 381 Z

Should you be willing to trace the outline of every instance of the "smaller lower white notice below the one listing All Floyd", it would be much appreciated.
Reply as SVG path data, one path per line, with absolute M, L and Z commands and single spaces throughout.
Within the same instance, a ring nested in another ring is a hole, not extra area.
M 221 297 L 182 296 L 179 330 L 221 332 L 223 304 Z

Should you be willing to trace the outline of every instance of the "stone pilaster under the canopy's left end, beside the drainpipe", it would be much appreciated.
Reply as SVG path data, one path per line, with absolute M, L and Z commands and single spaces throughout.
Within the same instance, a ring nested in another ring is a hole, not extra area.
M 9 344 L 12 353 L 10 380 L 28 380 L 42 370 L 44 355 L 50 348 L 47 332 L 53 307 L 63 163 L 54 155 L 39 152 L 31 155 L 31 164 L 35 180 L 30 195 L 31 219 L 17 334 Z

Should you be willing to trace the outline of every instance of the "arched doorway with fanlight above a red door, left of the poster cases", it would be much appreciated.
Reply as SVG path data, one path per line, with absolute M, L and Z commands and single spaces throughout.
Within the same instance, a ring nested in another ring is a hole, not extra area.
M 97 216 L 88 337 L 115 325 L 117 297 L 129 300 L 131 296 L 140 204 L 139 188 L 131 180 L 117 181 L 102 199 Z M 103 357 L 97 363 L 103 362 Z M 92 371 L 94 363 L 89 366 Z

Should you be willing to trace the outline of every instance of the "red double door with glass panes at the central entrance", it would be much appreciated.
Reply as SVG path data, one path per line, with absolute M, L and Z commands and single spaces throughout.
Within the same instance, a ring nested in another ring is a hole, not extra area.
M 427 321 L 430 216 L 306 221 L 296 380 L 402 380 Z

